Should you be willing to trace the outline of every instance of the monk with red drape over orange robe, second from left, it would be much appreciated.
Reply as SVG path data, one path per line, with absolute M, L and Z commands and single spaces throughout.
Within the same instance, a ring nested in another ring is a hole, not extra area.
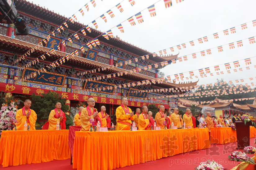
M 61 110 L 61 103 L 55 104 L 55 109 L 51 110 L 48 121 L 43 125 L 43 130 L 56 130 L 57 122 L 61 125 L 61 129 L 66 129 L 66 116 Z

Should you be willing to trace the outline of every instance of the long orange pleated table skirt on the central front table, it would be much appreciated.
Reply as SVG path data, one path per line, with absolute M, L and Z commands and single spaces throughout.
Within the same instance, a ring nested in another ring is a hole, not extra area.
M 77 131 L 73 168 L 115 169 L 209 147 L 208 129 Z

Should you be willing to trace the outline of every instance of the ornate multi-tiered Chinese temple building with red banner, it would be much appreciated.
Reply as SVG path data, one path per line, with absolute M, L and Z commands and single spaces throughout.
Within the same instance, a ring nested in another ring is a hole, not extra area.
M 30 30 L 28 35 L 11 39 L 15 27 L 12 24 L 0 25 L 0 87 L 13 95 L 22 94 L 23 100 L 30 99 L 33 93 L 41 95 L 56 91 L 66 99 L 65 104 L 70 105 L 70 116 L 73 117 L 77 112 L 78 102 L 93 97 L 96 101 L 95 108 L 106 106 L 106 112 L 115 124 L 115 109 L 121 104 L 122 96 L 128 98 L 128 106 L 133 111 L 153 103 L 157 106 L 164 104 L 165 108 L 174 108 L 177 107 L 177 98 L 166 96 L 189 91 L 198 82 L 178 84 L 175 81 L 159 81 L 158 70 L 166 66 L 160 63 L 171 64 L 178 54 L 153 56 L 151 52 L 129 44 L 118 36 L 108 36 L 107 40 L 100 36 L 104 32 L 86 28 L 86 25 L 76 21 L 71 23 L 69 18 L 31 2 L 17 0 L 15 5 L 18 16 L 26 21 Z M 62 28 L 56 29 L 60 25 Z M 74 33 L 77 35 L 74 36 Z M 68 37 L 71 41 L 67 40 Z M 99 42 L 91 49 L 90 45 L 86 44 L 95 37 Z M 81 45 L 84 51 L 79 48 Z M 34 49 L 31 50 L 32 48 Z M 74 56 L 70 54 L 72 52 Z M 20 59 L 25 53 L 27 55 Z M 44 57 L 39 57 L 42 54 Z M 61 62 L 56 63 L 60 58 Z M 120 64 L 129 60 L 131 62 Z M 56 64 L 52 66 L 53 62 Z M 156 67 L 145 69 L 145 66 L 149 65 Z M 24 69 L 20 70 L 22 67 Z M 36 72 L 40 69 L 45 70 Z M 24 79 L 32 73 L 33 76 Z M 107 77 L 108 74 L 111 76 Z M 19 81 L 20 79 L 23 81 Z M 150 81 L 143 83 L 145 80 Z M 133 84 L 138 81 L 141 81 L 141 84 Z M 127 83 L 130 86 L 124 87 L 123 84 Z M 108 89 L 109 86 L 114 88 Z M 92 89 L 94 91 L 90 91 Z M 23 107 L 22 103 L 20 107 Z

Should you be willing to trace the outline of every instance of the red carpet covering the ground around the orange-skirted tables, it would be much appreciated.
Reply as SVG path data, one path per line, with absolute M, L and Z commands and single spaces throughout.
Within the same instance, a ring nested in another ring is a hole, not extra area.
M 250 144 L 254 143 L 254 138 L 250 138 Z M 137 164 L 133 166 L 127 166 L 124 168 L 117 168 L 117 170 L 156 170 L 156 169 L 188 169 L 192 170 L 200 162 L 206 161 L 207 159 L 213 159 L 214 161 L 222 164 L 224 168 L 231 169 L 240 162 L 231 161 L 227 158 L 230 152 L 236 151 L 236 142 L 227 143 L 224 145 L 211 144 L 209 149 L 192 151 L 184 154 L 174 155 L 167 158 L 158 159 L 155 161 L 146 162 L 145 164 Z M 242 150 L 241 150 L 242 151 Z M 253 154 L 249 154 L 253 157 Z M 51 162 L 44 162 L 39 164 L 25 164 L 7 168 L 0 168 L 4 170 L 72 170 L 70 165 L 70 159 L 56 160 Z M 253 168 L 254 169 L 254 168 Z M 248 168 L 246 170 L 249 170 Z

